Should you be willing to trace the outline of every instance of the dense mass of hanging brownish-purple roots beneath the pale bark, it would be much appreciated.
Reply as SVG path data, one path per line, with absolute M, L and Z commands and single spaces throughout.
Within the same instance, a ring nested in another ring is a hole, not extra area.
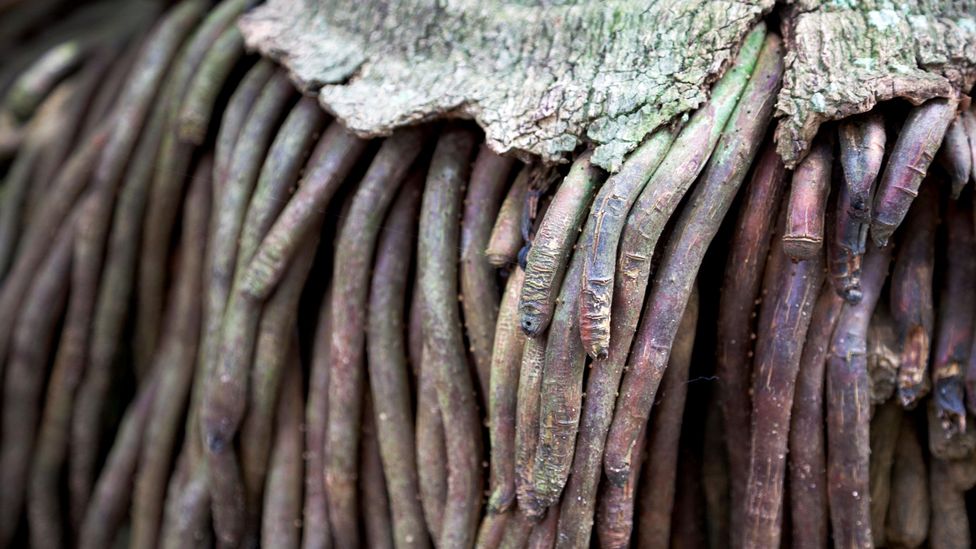
M 616 173 L 523 163 L 351 133 L 251 3 L 0 2 L 0 545 L 968 546 L 967 97 L 789 171 L 760 24 Z

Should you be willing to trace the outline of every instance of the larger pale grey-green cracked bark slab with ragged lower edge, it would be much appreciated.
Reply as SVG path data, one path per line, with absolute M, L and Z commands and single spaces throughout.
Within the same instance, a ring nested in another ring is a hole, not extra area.
M 616 171 L 697 108 L 773 0 L 270 0 L 251 48 L 362 135 L 475 119 L 497 152 Z

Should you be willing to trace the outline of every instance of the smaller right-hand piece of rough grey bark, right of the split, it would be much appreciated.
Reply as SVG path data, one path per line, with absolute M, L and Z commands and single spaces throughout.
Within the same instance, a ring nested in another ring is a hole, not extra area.
M 786 8 L 786 75 L 777 104 L 790 167 L 820 125 L 903 98 L 919 104 L 976 80 L 972 0 L 801 0 Z

